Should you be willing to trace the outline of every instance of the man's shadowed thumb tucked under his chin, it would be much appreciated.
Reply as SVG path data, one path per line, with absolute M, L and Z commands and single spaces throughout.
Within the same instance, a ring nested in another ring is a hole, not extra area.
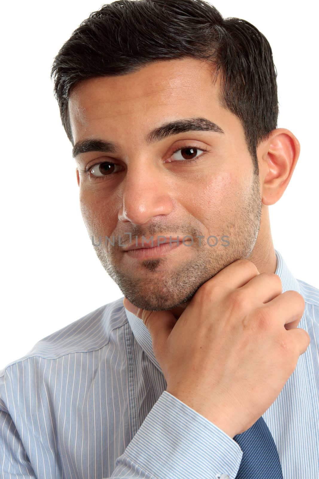
M 163 351 L 165 342 L 172 329 L 176 325 L 177 319 L 170 311 L 148 311 L 147 309 L 137 308 L 126 297 L 123 299 L 124 308 L 142 319 L 146 328 L 151 334 L 153 349 Z

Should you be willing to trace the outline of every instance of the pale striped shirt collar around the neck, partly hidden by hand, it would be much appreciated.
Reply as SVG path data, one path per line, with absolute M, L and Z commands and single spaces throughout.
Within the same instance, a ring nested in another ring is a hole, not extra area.
M 281 279 L 283 287 L 282 292 L 285 293 L 286 291 L 293 290 L 297 291 L 297 293 L 300 293 L 297 279 L 290 273 L 286 262 L 279 251 L 275 250 L 275 255 L 277 259 L 275 274 L 278 274 Z M 141 346 L 144 353 L 148 356 L 152 363 L 162 372 L 161 366 L 158 364 L 158 361 L 154 356 L 150 332 L 144 325 L 142 319 L 135 316 L 135 314 L 131 313 L 131 311 L 128 311 L 126 308 L 125 312 L 135 340 Z

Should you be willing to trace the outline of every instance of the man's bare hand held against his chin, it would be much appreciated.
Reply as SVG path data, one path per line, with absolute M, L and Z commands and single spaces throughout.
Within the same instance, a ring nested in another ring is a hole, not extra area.
M 151 334 L 166 390 L 232 438 L 271 406 L 307 350 L 309 335 L 297 328 L 304 308 L 277 274 L 241 259 L 201 285 L 177 320 L 133 312 Z

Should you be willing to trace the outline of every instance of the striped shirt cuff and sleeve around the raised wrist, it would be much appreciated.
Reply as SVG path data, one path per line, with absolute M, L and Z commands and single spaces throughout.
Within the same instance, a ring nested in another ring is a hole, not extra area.
M 242 454 L 227 433 L 164 391 L 110 479 L 234 479 Z

